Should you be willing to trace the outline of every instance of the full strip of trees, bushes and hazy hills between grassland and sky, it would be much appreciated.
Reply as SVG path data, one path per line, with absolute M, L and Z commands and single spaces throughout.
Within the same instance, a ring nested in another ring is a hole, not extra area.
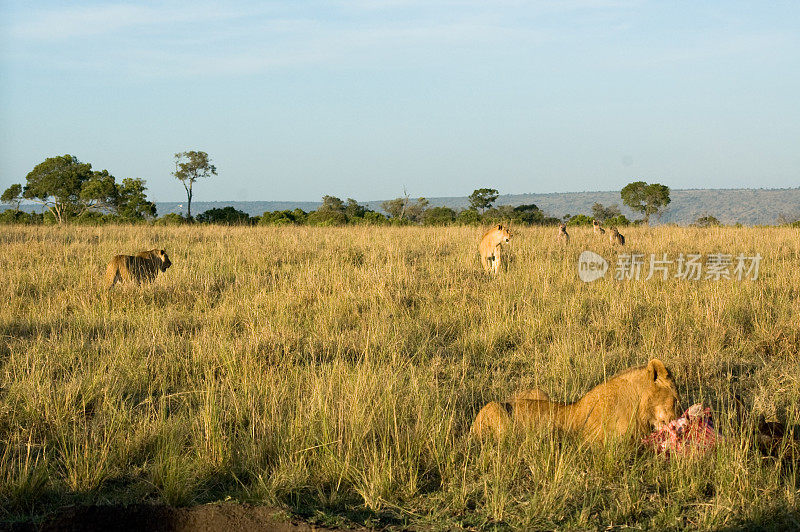
M 191 216 L 193 184 L 217 175 L 207 153 L 175 154 L 172 175 L 187 193 L 187 203 L 156 205 L 146 196 L 145 181 L 126 178 L 117 183 L 107 170 L 93 171 L 72 155 L 51 157 L 37 165 L 25 185 L 8 187 L 0 201 L 0 223 L 63 224 L 148 223 L 178 225 L 190 222 L 223 225 L 485 225 L 497 221 L 519 225 L 625 226 L 650 222 L 707 227 L 720 225 L 792 225 L 800 220 L 800 188 L 783 190 L 670 190 L 659 183 L 635 181 L 620 192 L 501 195 L 484 187 L 469 196 L 359 203 L 326 195 L 321 202 L 194 202 L 201 214 Z M 622 202 L 622 207 L 620 207 Z M 35 205 L 43 212 L 33 212 Z

